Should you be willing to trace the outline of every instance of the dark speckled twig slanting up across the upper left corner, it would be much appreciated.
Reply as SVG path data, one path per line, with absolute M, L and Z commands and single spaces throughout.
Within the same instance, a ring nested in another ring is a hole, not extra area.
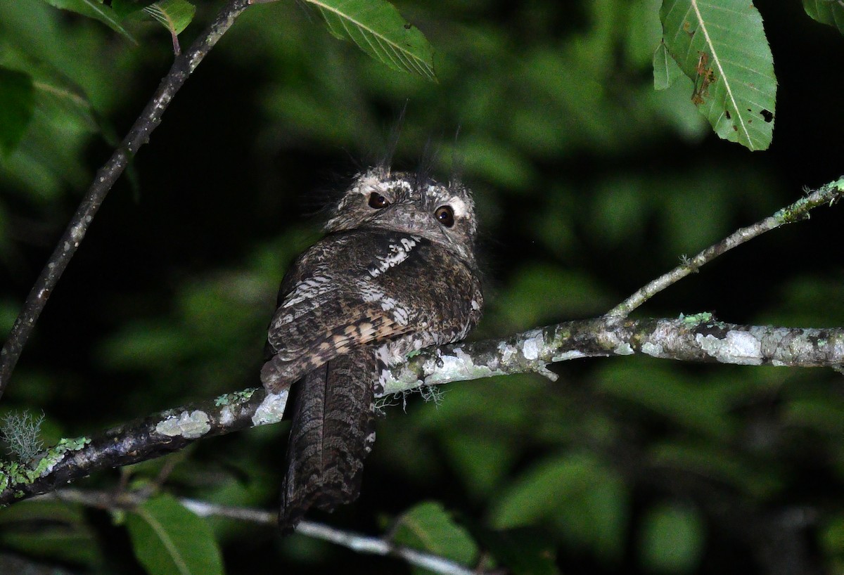
M 220 10 L 208 29 L 193 42 L 190 49 L 176 57 L 172 67 L 170 67 L 170 72 L 161 80 L 158 90 L 149 100 L 141 115 L 138 116 L 138 120 L 135 121 L 132 129 L 129 130 L 120 146 L 111 155 L 111 159 L 95 175 L 88 192 L 79 204 L 76 213 L 73 214 L 70 223 L 68 223 L 68 228 L 64 231 L 56 249 L 41 271 L 41 276 L 38 277 L 30 290 L 30 294 L 24 302 L 24 307 L 21 309 L 18 319 L 15 320 L 8 339 L 3 344 L 3 350 L 0 351 L 0 397 L 6 390 L 8 380 L 18 363 L 20 353 L 23 351 L 26 341 L 30 338 L 32 330 L 35 328 L 35 322 L 41 315 L 47 299 L 50 298 L 59 277 L 62 277 L 62 273 L 76 253 L 111 187 L 123 173 L 129 159 L 135 153 L 138 153 L 138 148 L 149 142 L 149 134 L 159 125 L 164 110 L 181 88 L 181 85 L 185 83 L 185 80 L 199 65 L 199 62 L 202 62 L 203 57 L 214 47 L 217 40 L 225 34 L 231 24 L 234 24 L 237 16 L 246 9 L 248 4 L 248 0 L 230 0 L 226 3 L 225 8 Z

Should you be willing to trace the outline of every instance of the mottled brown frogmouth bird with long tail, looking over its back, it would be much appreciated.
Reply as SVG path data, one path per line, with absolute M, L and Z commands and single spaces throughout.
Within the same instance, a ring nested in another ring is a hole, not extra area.
M 300 379 L 279 523 L 360 492 L 375 441 L 373 394 L 408 352 L 463 339 L 480 319 L 477 223 L 468 190 L 408 174 L 359 175 L 279 292 L 261 371 L 273 393 Z

